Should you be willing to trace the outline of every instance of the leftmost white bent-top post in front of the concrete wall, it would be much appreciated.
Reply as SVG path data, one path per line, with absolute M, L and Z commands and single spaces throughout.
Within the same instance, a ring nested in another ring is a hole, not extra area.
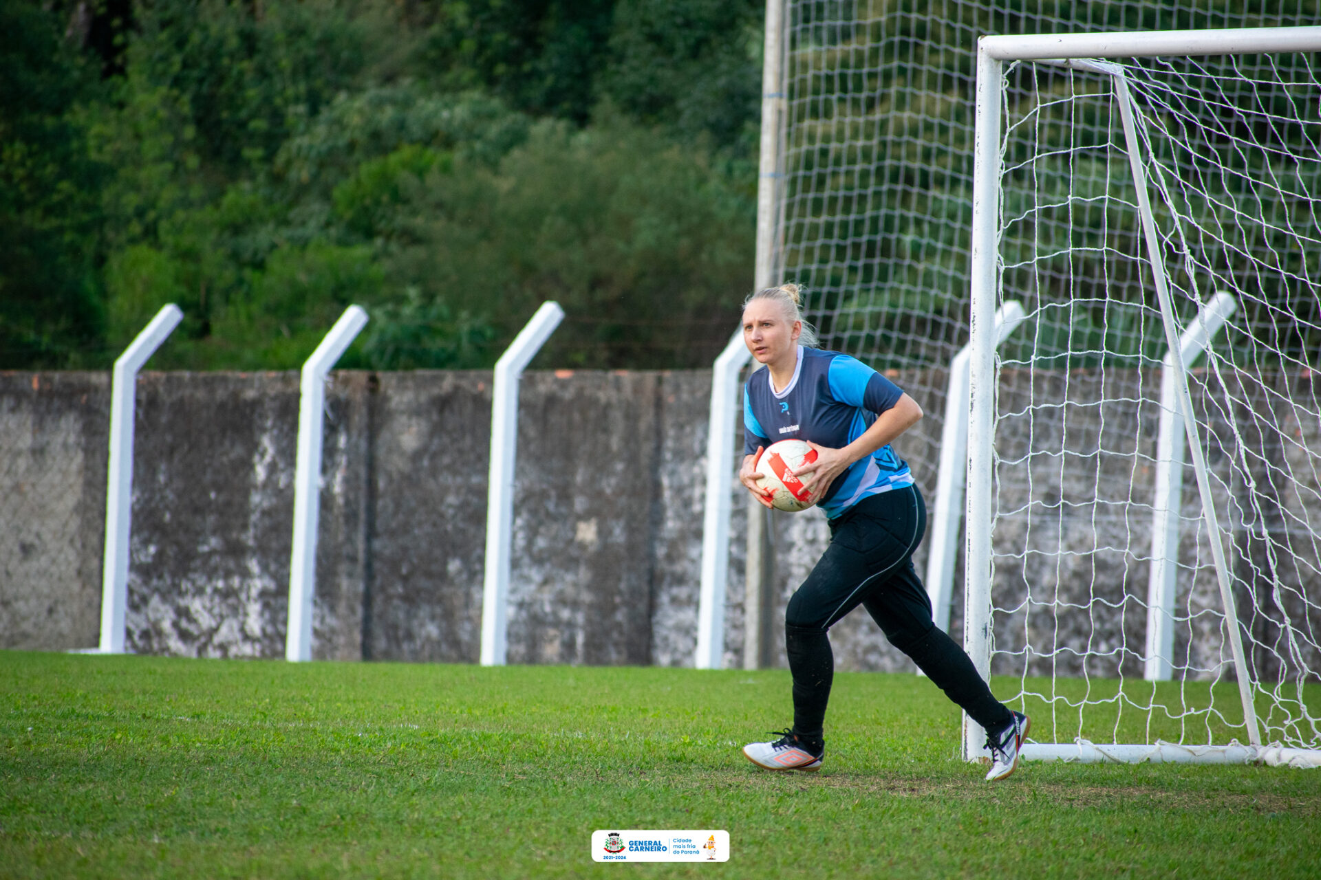
M 124 653 L 124 608 L 128 606 L 128 534 L 133 511 L 133 412 L 137 371 L 184 319 L 173 302 L 156 313 L 115 360 L 110 392 L 110 467 L 106 479 L 106 554 L 100 569 L 100 646 Z

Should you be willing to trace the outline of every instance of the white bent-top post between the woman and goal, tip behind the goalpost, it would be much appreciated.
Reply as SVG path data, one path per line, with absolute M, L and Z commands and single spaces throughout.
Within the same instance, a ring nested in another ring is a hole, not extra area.
M 996 347 L 1022 323 L 1022 303 L 1012 299 L 995 313 Z M 950 600 L 954 596 L 954 561 L 958 555 L 959 522 L 963 520 L 963 482 L 968 464 L 968 358 L 971 344 L 950 360 L 950 380 L 945 393 L 945 427 L 941 429 L 941 470 L 935 480 L 935 516 L 926 558 L 926 591 L 931 596 L 935 625 L 950 627 Z M 921 670 L 919 670 L 921 672 Z

